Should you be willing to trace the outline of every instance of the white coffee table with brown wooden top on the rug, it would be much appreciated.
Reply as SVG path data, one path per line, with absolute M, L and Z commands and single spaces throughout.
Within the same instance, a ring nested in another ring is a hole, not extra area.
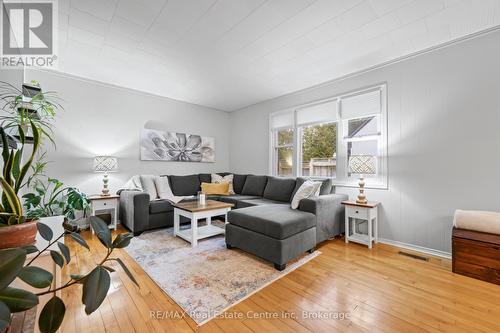
M 198 240 L 225 233 L 225 229 L 212 224 L 212 217 L 224 215 L 227 223 L 227 213 L 234 206 L 226 202 L 207 200 L 205 205 L 197 201 L 179 202 L 174 206 L 174 236 L 178 236 L 191 243 L 192 247 L 198 245 Z M 180 217 L 191 219 L 191 228 L 180 229 Z M 207 224 L 198 226 L 198 220 L 206 219 Z

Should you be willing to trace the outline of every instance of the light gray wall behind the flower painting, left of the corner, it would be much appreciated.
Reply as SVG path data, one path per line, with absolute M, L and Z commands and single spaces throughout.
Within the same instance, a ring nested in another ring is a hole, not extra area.
M 191 174 L 229 168 L 229 116 L 226 112 L 168 98 L 105 85 L 76 77 L 27 70 L 44 91 L 57 91 L 65 110 L 54 123 L 57 149 L 49 149 L 47 175 L 99 193 L 102 175 L 92 172 L 95 155 L 118 157 L 119 171 L 110 174 L 116 190 L 134 174 Z M 149 123 L 148 123 L 149 122 Z M 139 135 L 144 125 L 215 137 L 215 163 L 141 161 Z

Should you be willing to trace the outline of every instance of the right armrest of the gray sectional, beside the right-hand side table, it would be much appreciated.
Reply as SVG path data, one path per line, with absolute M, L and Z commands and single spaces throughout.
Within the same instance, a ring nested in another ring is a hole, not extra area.
M 347 194 L 326 194 L 300 201 L 299 210 L 316 215 L 316 243 L 342 233 L 345 213 L 342 201 L 348 199 Z

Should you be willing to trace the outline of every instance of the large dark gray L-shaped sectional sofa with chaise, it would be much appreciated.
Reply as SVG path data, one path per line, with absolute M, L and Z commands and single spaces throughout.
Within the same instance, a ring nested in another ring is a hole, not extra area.
M 224 176 L 229 173 L 219 173 Z M 210 174 L 165 175 L 174 195 L 196 195 Z M 233 203 L 227 215 L 226 244 L 274 263 L 282 270 L 286 264 L 312 251 L 316 244 L 343 232 L 347 195 L 335 194 L 330 179 L 322 180 L 318 197 L 303 199 L 294 210 L 290 202 L 305 178 L 281 178 L 234 174 L 235 194 L 209 196 Z M 173 226 L 173 207 L 167 200 L 151 201 L 149 194 L 121 191 L 120 220 L 138 235 L 146 230 Z M 222 217 L 223 218 L 223 217 Z M 181 223 L 189 222 L 182 219 Z

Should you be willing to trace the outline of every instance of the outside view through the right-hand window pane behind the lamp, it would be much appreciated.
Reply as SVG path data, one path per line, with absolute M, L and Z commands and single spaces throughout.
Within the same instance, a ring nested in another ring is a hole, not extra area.
M 351 155 L 370 155 L 378 157 L 379 154 L 379 116 L 369 116 L 357 119 L 346 120 L 347 123 L 347 158 Z M 377 161 L 378 162 L 378 161 Z M 358 177 L 348 172 L 348 177 Z M 365 175 L 368 177 L 377 177 L 375 175 Z

